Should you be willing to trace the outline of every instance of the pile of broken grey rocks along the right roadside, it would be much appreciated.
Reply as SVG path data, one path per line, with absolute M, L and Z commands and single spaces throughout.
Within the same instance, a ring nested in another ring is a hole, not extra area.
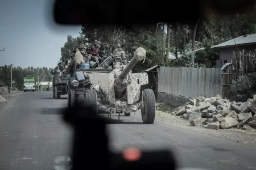
M 181 116 L 192 126 L 204 126 L 208 129 L 242 128 L 256 129 L 256 95 L 245 103 L 222 99 L 220 95 L 205 99 L 190 99 L 182 107 L 174 109 L 172 114 Z

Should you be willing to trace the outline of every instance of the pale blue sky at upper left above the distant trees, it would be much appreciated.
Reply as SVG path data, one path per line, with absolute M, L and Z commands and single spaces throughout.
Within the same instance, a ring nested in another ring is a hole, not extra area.
M 52 18 L 53 0 L 2 0 L 0 5 L 0 66 L 55 67 L 67 35 L 79 36 L 81 26 L 63 26 Z

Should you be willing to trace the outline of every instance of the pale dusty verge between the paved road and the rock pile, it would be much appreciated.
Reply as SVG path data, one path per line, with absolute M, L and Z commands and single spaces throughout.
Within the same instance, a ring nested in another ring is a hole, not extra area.
M 191 126 L 188 120 L 184 120 L 180 118 L 180 116 L 171 115 L 170 113 L 174 109 L 170 105 L 158 103 L 161 105 L 159 108 L 160 111 L 156 111 L 156 120 L 174 125 L 180 128 L 185 128 L 193 131 L 197 131 L 198 133 L 212 135 L 214 137 L 219 137 L 223 139 L 228 139 L 229 141 L 243 143 L 249 146 L 256 146 L 256 132 L 251 132 L 242 129 L 206 129 L 201 126 Z

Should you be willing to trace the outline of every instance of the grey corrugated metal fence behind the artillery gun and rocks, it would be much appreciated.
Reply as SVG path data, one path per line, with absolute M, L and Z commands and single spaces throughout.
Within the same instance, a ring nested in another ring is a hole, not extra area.
M 186 97 L 221 95 L 221 69 L 160 67 L 158 92 Z

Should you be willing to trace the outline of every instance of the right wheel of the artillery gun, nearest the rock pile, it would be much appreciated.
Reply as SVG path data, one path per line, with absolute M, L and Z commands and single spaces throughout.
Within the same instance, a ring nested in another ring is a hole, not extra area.
M 143 90 L 141 117 L 143 124 L 153 124 L 155 121 L 155 94 L 152 89 Z

